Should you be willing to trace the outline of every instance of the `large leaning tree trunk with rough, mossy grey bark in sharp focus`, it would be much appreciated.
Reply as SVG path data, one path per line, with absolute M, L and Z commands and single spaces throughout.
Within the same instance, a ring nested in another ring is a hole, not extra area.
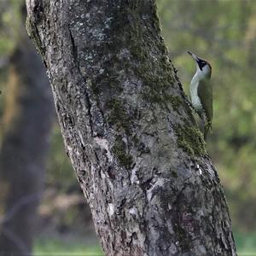
M 154 1 L 26 5 L 104 252 L 236 255 L 223 190 Z

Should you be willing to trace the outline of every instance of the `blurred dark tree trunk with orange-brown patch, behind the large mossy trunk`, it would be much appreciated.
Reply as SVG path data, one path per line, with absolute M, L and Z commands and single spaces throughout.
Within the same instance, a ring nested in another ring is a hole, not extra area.
M 26 35 L 9 67 L 0 154 L 0 255 L 30 255 L 44 187 L 45 157 L 54 104 L 45 68 Z

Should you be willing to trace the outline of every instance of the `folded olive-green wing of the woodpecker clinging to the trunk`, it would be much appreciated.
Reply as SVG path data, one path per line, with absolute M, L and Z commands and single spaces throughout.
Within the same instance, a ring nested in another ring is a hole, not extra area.
M 212 130 L 212 84 L 210 79 L 202 79 L 199 82 L 197 94 L 207 116 L 207 125 Z

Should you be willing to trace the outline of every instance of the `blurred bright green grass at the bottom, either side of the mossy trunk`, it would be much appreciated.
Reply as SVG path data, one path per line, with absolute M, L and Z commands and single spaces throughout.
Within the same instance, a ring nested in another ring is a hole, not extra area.
M 256 233 L 235 233 L 238 256 L 256 256 Z M 102 256 L 102 248 L 97 241 L 85 241 L 81 238 L 41 238 L 34 247 L 34 256 Z

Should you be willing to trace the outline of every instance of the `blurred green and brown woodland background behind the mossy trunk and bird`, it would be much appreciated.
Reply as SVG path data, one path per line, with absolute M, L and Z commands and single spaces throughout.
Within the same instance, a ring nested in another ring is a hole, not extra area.
M 24 2 L 0 0 L 0 251 L 101 255 L 42 61 L 26 36 Z M 156 2 L 187 94 L 195 63 L 186 50 L 212 64 L 214 133 L 207 149 L 239 255 L 256 255 L 256 1 Z

